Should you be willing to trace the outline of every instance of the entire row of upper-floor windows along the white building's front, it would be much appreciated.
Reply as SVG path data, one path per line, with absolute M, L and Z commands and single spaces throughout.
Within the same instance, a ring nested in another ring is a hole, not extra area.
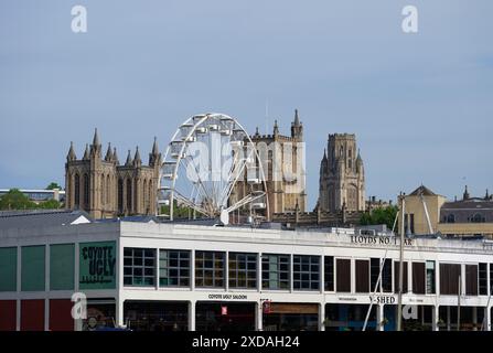
M 224 252 L 195 252 L 180 249 L 125 248 L 124 285 L 190 287 L 194 271 L 195 286 L 202 288 L 225 288 L 226 271 L 229 288 L 257 289 L 257 254 Z M 323 266 L 323 289 L 336 292 L 398 292 L 399 261 L 381 258 L 351 259 L 324 256 L 262 254 L 260 256 L 261 288 L 269 290 L 320 290 L 321 266 Z M 159 264 L 156 260 L 159 259 Z M 227 264 L 226 264 L 227 260 Z M 159 277 L 158 277 L 158 266 Z M 226 266 L 227 265 L 227 266 Z M 410 267 L 410 288 L 408 288 Z M 381 270 L 382 269 L 382 270 Z M 458 295 L 460 264 L 440 264 L 440 293 Z M 487 271 L 493 285 L 493 264 L 465 265 L 465 287 L 469 296 L 487 295 Z M 292 275 L 292 276 L 291 276 Z M 353 276 L 354 288 L 353 288 Z M 157 279 L 159 278 L 159 279 Z M 435 261 L 405 261 L 403 266 L 403 292 L 433 295 L 437 292 L 437 268 Z

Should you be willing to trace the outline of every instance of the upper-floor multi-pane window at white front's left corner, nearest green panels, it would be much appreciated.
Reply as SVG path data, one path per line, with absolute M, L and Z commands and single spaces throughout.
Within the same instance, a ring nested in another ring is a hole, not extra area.
M 124 249 L 124 285 L 154 286 L 156 250 L 146 248 Z

